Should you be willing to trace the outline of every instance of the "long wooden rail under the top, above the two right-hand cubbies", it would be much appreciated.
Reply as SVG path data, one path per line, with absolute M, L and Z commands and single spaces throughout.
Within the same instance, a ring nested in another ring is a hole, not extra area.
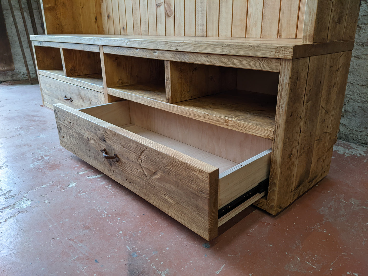
M 103 51 L 108 54 L 118 54 L 124 56 L 146 57 L 149 59 L 161 59 L 171 61 L 182 61 L 188 63 L 199 63 L 235 68 L 255 69 L 263 71 L 280 71 L 280 59 L 228 56 L 219 54 L 201 54 L 188 52 L 160 51 L 152 49 L 139 49 L 128 47 L 103 47 Z

